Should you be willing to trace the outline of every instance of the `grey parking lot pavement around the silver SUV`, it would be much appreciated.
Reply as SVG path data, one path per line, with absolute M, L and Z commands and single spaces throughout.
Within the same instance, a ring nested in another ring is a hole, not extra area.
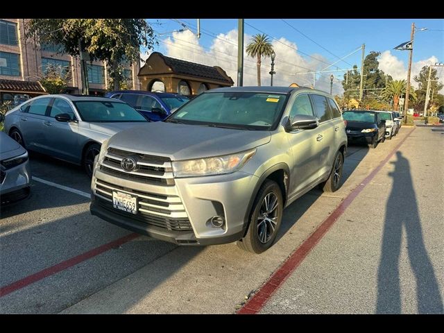
M 259 313 L 443 313 L 444 135 L 412 130 L 349 146 L 341 189 L 287 207 L 261 255 L 102 221 L 83 169 L 31 154 L 31 197 L 1 208 L 0 312 L 232 314 L 393 153 Z

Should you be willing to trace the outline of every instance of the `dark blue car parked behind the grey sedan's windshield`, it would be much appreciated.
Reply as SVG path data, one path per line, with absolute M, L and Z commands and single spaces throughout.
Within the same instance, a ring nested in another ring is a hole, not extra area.
M 189 101 L 188 97 L 180 94 L 144 92 L 142 90 L 108 92 L 105 97 L 125 101 L 151 121 L 164 120 L 171 114 L 172 110 L 180 108 Z

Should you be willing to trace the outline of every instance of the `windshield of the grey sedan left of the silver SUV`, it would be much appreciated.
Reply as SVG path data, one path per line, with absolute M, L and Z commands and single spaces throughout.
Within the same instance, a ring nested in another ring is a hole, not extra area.
M 80 117 L 92 122 L 147 121 L 130 105 L 114 101 L 76 101 Z

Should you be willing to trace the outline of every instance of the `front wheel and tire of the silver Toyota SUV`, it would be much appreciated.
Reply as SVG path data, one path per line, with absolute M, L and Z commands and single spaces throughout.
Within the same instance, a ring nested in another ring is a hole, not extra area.
M 283 210 L 279 185 L 273 180 L 265 180 L 253 203 L 248 231 L 243 239 L 237 241 L 239 248 L 257 254 L 271 248 L 280 228 Z

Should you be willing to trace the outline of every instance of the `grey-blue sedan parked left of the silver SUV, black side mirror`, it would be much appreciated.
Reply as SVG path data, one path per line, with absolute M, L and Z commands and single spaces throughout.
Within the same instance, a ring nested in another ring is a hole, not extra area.
M 142 114 L 122 101 L 43 95 L 10 110 L 5 132 L 30 151 L 83 165 L 91 176 L 94 157 L 105 139 L 146 122 Z

